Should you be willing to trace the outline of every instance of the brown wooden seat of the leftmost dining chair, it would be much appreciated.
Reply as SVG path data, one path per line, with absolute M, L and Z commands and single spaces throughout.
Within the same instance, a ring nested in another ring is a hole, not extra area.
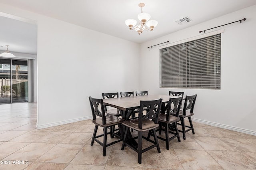
M 102 124 L 102 118 L 99 117 L 96 120 L 92 120 L 92 123 L 94 123 L 95 125 L 98 125 L 100 127 L 109 127 L 109 126 L 113 126 L 113 125 L 117 125 L 121 122 L 123 122 L 124 119 L 121 119 L 120 117 L 114 116 L 114 115 L 108 115 L 106 116 L 106 124 Z

